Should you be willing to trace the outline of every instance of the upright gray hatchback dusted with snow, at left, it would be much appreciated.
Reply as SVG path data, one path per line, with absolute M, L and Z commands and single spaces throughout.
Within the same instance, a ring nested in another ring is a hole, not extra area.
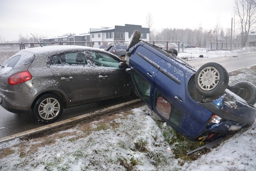
M 121 61 L 107 51 L 83 46 L 21 50 L 0 67 L 0 105 L 51 123 L 63 108 L 137 97 L 130 76 L 118 67 Z

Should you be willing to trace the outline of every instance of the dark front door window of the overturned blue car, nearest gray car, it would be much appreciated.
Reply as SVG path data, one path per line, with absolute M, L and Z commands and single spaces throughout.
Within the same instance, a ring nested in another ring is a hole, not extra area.
M 135 71 L 132 74 L 132 78 L 140 97 L 149 105 L 151 85 Z

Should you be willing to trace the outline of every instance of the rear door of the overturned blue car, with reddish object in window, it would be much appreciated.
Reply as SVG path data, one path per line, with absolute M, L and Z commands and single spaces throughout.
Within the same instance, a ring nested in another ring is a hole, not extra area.
M 154 80 L 154 90 L 155 111 L 180 130 L 187 116 L 185 74 L 172 63 L 164 61 Z

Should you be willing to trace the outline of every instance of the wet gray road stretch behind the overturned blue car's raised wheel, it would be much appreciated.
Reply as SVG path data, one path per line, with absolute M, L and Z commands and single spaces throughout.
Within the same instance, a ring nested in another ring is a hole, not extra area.
M 256 65 L 256 52 L 236 54 L 232 56 L 219 57 L 219 58 L 202 58 L 202 59 L 191 60 L 187 62 L 190 65 L 195 66 L 196 68 L 199 68 L 200 66 L 208 62 L 216 62 L 224 66 L 228 70 L 228 72 L 232 72 L 248 66 Z

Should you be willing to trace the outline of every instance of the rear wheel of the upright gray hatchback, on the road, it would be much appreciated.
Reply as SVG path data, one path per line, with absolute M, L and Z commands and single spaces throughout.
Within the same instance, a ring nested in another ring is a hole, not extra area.
M 63 111 L 63 102 L 59 96 L 47 93 L 36 99 L 33 105 L 33 115 L 39 122 L 52 123 Z

